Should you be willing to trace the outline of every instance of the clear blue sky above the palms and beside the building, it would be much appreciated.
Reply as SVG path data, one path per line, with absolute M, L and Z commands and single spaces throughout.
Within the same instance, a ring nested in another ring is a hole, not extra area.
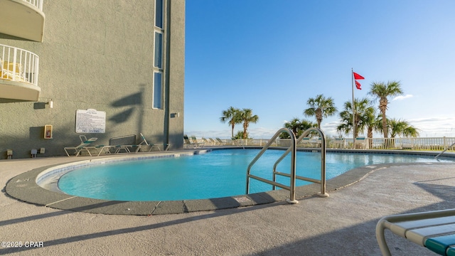
M 420 137 L 455 137 L 454 11 L 453 0 L 188 0 L 184 132 L 229 138 L 220 117 L 230 106 L 259 116 L 255 139 L 294 117 L 316 122 L 306 101 L 323 94 L 342 111 L 353 68 L 365 78 L 355 97 L 400 81 L 387 117 Z M 321 129 L 337 136 L 339 123 L 337 112 Z

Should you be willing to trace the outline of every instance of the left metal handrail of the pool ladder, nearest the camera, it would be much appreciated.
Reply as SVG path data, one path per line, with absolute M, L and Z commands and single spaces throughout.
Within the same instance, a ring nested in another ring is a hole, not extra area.
M 252 166 L 256 163 L 256 161 L 259 159 L 259 157 L 261 157 L 262 154 L 264 154 L 264 152 L 269 148 L 269 146 L 272 145 L 272 143 L 274 143 L 275 139 L 277 139 L 279 137 L 279 134 L 282 134 L 282 132 L 287 132 L 287 134 L 289 134 L 289 136 L 291 137 L 291 146 L 289 146 L 289 149 L 284 153 L 284 154 L 289 154 L 289 151 L 292 151 L 292 154 L 291 154 L 291 171 L 290 171 L 290 176 L 291 176 L 290 186 L 286 186 L 286 185 L 284 185 L 282 183 L 277 183 L 276 181 L 269 181 L 269 180 L 267 180 L 265 178 L 261 178 L 261 177 L 254 176 L 254 175 L 250 174 Z M 257 154 L 255 159 L 253 159 L 251 161 L 250 165 L 248 165 L 248 168 L 247 168 L 247 189 L 246 189 L 247 193 L 250 193 L 250 178 L 255 178 L 258 181 L 262 181 L 264 183 L 271 184 L 272 186 L 278 186 L 280 188 L 284 188 L 284 189 L 289 190 L 289 200 L 288 200 L 288 202 L 289 203 L 299 203 L 299 201 L 296 201 L 296 179 L 295 179 L 295 175 L 296 175 L 296 147 L 297 147 L 296 136 L 291 131 L 291 129 L 289 129 L 289 128 L 279 129 L 278 132 L 274 134 L 272 139 L 270 139 L 269 142 L 262 148 L 262 150 L 259 151 L 259 154 Z

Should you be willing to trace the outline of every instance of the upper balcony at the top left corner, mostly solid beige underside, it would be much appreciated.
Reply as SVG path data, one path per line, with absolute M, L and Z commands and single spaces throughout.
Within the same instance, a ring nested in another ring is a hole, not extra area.
M 43 0 L 0 0 L 0 6 L 0 33 L 43 41 Z

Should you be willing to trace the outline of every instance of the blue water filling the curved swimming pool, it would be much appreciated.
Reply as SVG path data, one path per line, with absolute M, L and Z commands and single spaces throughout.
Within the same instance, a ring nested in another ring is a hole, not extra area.
M 223 149 L 207 154 L 88 166 L 63 175 L 61 191 L 74 196 L 118 201 L 173 201 L 220 198 L 245 194 L 247 166 L 258 149 Z M 284 151 L 267 150 L 253 166 L 252 174 L 272 178 L 272 166 Z M 431 156 L 400 154 L 326 154 L 326 178 L 360 166 L 385 163 L 432 162 Z M 297 175 L 321 178 L 321 153 L 297 152 Z M 277 170 L 289 174 L 289 156 Z M 289 178 L 277 181 L 289 186 Z M 306 181 L 296 181 L 297 186 Z M 272 190 L 272 186 L 250 180 L 250 193 Z

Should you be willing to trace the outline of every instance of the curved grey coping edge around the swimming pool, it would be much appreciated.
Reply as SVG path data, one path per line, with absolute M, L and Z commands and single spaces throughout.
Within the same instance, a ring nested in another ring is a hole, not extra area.
M 191 151 L 181 151 L 188 153 Z M 181 153 L 178 152 L 178 153 Z M 171 153 L 171 152 L 168 152 Z M 177 154 L 178 154 L 177 153 Z M 394 152 L 397 153 L 397 152 Z M 402 153 L 402 152 L 400 152 Z M 173 152 L 176 154 L 176 152 Z M 198 154 L 198 153 L 196 153 Z M 132 156 L 124 156 L 132 157 Z M 102 158 L 102 159 L 107 159 Z M 94 161 L 103 161 L 102 159 L 93 159 Z M 87 160 L 83 160 L 87 161 Z M 92 161 L 92 160 L 89 160 Z M 77 161 L 73 161 L 74 164 Z M 69 163 L 67 163 L 69 164 Z M 427 163 L 407 163 L 407 164 L 375 164 L 372 166 L 362 166 L 346 173 L 331 178 L 326 181 L 326 192 L 336 191 L 338 189 L 350 186 L 363 178 L 372 174 L 374 171 L 385 169 L 390 166 L 411 166 L 424 165 Z M 431 164 L 451 164 L 451 163 L 431 163 Z M 37 177 L 55 166 L 64 164 L 53 164 L 42 166 L 31 171 L 26 171 L 11 178 L 5 187 L 6 194 L 23 201 L 32 203 L 37 206 L 45 206 L 60 210 L 80 211 L 85 213 L 100 213 L 107 215 L 161 215 L 190 213 L 196 211 L 220 210 L 226 208 L 238 208 L 245 206 L 255 206 L 264 203 L 283 202 L 289 198 L 289 191 L 277 190 L 262 193 L 251 193 L 248 195 L 230 196 L 224 198 L 210 198 L 199 200 L 183 201 L 107 201 L 92 198 L 82 198 L 79 196 L 70 196 L 65 193 L 58 193 L 42 188 L 36 183 Z M 301 200 L 306 197 L 316 196 L 321 192 L 321 185 L 312 183 L 305 186 L 296 187 L 296 199 Z

